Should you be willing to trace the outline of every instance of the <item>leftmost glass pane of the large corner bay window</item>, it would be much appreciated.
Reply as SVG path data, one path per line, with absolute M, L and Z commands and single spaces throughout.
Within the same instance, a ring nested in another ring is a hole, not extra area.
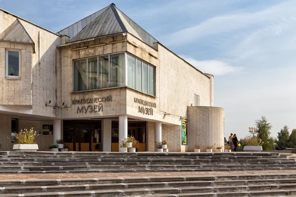
M 74 91 L 87 89 L 86 59 L 74 61 Z

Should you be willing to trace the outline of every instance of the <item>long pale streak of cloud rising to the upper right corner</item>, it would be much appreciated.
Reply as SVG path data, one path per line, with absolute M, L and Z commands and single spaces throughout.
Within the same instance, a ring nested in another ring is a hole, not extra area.
M 165 35 L 163 40 L 167 45 L 183 45 L 205 36 L 282 23 L 294 13 L 296 13 L 295 1 L 285 1 L 257 12 L 249 11 L 215 16 L 199 24 Z M 281 30 L 277 30 L 277 33 L 280 32 Z M 182 39 L 176 39 L 180 37 Z

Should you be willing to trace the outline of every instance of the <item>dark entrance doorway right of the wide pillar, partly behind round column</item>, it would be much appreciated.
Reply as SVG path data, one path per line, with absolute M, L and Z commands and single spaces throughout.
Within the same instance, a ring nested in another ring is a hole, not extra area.
M 127 134 L 135 137 L 139 141 L 139 147 L 137 152 L 145 152 L 146 149 L 146 122 L 128 121 Z M 119 125 L 118 121 L 112 121 L 112 133 L 111 133 L 111 151 L 119 151 Z

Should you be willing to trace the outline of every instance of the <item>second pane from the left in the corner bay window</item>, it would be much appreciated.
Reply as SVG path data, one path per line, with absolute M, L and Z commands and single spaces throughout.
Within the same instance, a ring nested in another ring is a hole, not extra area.
M 98 59 L 88 59 L 88 90 L 98 89 Z

